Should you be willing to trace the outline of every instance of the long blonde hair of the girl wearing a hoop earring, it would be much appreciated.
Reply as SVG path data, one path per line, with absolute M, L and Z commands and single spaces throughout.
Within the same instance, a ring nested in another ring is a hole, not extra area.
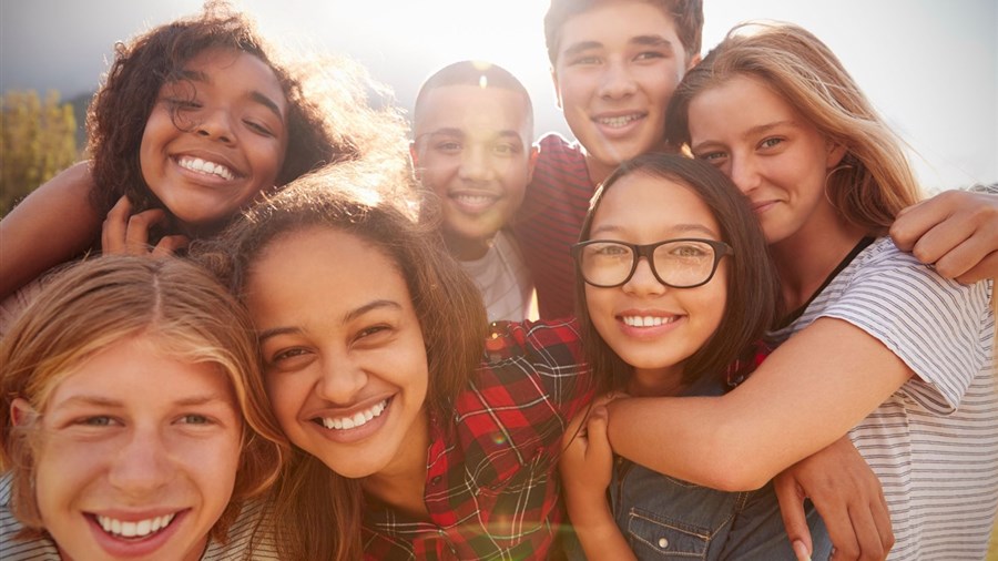
M 822 135 L 845 146 L 841 165 L 828 176 L 827 194 L 846 220 L 883 235 L 902 208 L 921 198 L 900 141 L 828 47 L 792 23 L 732 29 L 672 95 L 666 140 L 673 146 L 689 144 L 690 103 L 740 75 L 760 80 Z

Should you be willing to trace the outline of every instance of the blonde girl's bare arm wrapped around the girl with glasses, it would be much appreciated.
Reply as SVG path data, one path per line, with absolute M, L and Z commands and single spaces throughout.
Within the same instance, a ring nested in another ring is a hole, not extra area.
M 819 318 L 724 396 L 610 404 L 608 434 L 618 453 L 649 469 L 720 490 L 756 489 L 841 438 L 912 375 L 866 332 Z M 671 453 L 649 440 L 669 442 Z

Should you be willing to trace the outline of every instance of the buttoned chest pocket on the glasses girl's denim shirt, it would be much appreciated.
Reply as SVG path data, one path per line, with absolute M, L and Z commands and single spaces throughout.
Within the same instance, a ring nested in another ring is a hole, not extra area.
M 628 539 L 638 559 L 706 559 L 712 532 L 643 509 L 628 512 Z

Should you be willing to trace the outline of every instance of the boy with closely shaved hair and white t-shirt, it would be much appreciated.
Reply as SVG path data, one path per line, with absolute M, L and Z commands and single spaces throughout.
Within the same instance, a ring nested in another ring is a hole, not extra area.
M 495 64 L 456 62 L 420 88 L 413 129 L 413 164 L 439 198 L 448 249 L 478 285 L 490 322 L 523 320 L 533 283 L 505 228 L 538 154 L 527 89 Z

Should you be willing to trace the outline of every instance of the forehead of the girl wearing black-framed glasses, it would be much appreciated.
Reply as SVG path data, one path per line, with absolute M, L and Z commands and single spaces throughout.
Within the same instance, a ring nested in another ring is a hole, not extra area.
M 593 215 L 592 231 L 665 234 L 691 225 L 703 226 L 715 235 L 720 231 L 710 207 L 692 187 L 673 178 L 635 172 L 607 190 Z

